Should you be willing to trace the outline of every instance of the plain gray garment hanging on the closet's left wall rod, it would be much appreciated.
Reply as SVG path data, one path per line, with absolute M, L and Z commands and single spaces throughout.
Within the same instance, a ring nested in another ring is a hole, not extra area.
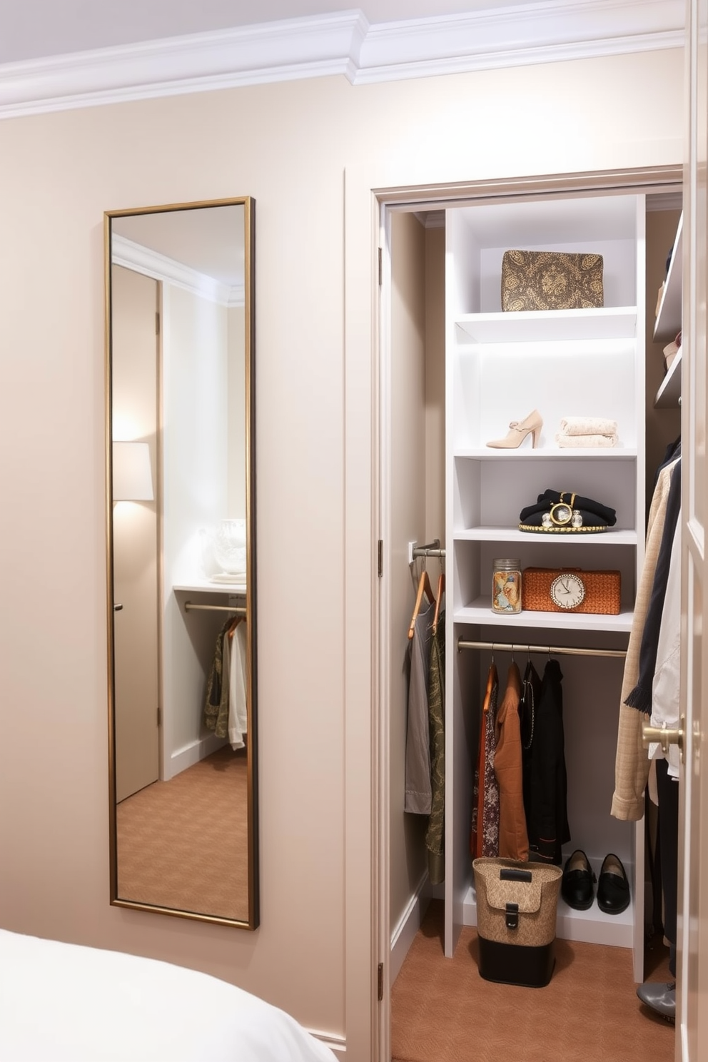
M 410 678 L 403 810 L 413 811 L 415 815 L 430 815 L 432 809 L 428 672 L 434 616 L 435 602 L 432 601 L 425 611 L 421 609 L 418 613 L 415 621 L 415 634 L 409 641 Z

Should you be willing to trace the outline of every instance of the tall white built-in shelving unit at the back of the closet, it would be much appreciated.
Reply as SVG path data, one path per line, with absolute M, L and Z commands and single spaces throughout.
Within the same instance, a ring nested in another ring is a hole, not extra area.
M 644 547 L 644 198 L 587 196 L 480 204 L 446 213 L 446 954 L 462 925 L 476 924 L 469 854 L 473 764 L 490 654 L 453 651 L 462 640 L 625 649 Z M 604 259 L 604 307 L 501 311 L 501 259 L 507 249 L 597 252 Z M 511 421 L 537 409 L 535 449 L 487 447 Z M 615 419 L 619 445 L 564 449 L 566 416 Z M 593 535 L 518 530 L 520 510 L 547 489 L 575 491 L 617 511 L 617 525 Z M 616 568 L 618 616 L 491 612 L 496 556 L 521 567 Z M 511 655 L 497 656 L 500 696 Z M 521 670 L 525 665 L 517 661 Z M 560 902 L 558 936 L 634 947 L 643 962 L 643 824 L 609 815 L 623 663 L 559 657 L 571 842 L 599 873 L 605 855 L 622 859 L 633 903 L 621 917 L 597 904 Z M 542 676 L 545 662 L 534 664 Z M 641 977 L 639 977 L 641 979 Z

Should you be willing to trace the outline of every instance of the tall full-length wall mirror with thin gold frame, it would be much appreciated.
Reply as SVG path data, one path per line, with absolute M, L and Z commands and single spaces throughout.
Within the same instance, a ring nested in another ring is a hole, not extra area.
M 110 902 L 252 929 L 254 219 L 105 216 Z

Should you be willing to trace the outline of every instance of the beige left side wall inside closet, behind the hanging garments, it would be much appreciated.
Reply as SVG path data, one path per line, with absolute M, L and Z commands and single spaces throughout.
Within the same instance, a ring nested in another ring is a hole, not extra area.
M 392 430 L 385 464 L 391 482 L 390 552 L 390 927 L 395 980 L 430 897 L 426 816 L 403 810 L 408 704 L 408 629 L 418 576 L 427 565 L 436 585 L 439 562 L 408 564 L 408 544 L 445 539 L 445 225 L 392 211 L 390 374 Z M 384 397 L 384 401 L 385 401 Z M 443 892 L 439 892 L 443 895 Z

